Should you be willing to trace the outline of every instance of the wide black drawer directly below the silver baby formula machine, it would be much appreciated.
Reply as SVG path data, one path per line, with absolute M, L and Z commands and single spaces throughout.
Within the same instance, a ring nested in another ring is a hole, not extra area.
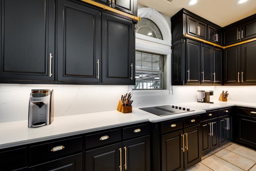
M 46 161 L 76 151 L 82 151 L 82 137 L 34 145 L 30 146 L 30 162 Z

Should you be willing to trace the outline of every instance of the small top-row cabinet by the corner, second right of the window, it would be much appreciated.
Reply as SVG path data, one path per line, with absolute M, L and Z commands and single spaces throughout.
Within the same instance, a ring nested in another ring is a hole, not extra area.
M 222 32 L 220 29 L 208 25 L 208 41 L 222 45 Z

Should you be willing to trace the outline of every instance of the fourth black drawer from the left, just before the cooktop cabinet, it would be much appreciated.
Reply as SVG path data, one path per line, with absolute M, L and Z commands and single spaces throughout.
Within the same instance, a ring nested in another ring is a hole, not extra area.
M 123 139 L 147 135 L 150 132 L 149 123 L 123 128 Z

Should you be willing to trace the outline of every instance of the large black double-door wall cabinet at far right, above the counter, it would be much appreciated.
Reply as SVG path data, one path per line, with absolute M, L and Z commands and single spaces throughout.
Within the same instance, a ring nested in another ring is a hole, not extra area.
M 224 84 L 256 84 L 256 41 L 224 50 Z

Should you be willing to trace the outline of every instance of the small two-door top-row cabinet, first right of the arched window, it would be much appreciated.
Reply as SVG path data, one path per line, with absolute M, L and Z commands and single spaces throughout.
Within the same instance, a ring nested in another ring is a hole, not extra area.
M 187 34 L 207 40 L 207 24 L 187 16 Z

